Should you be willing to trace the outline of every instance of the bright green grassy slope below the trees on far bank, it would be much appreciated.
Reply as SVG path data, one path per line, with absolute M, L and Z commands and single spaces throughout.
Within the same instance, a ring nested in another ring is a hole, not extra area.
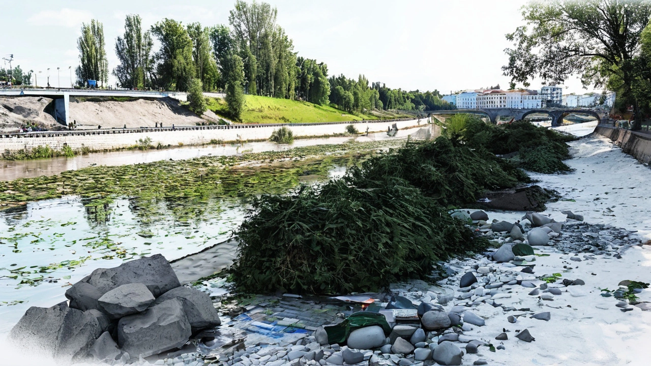
M 208 98 L 208 109 L 221 117 L 229 117 L 229 108 L 221 98 Z M 318 106 L 300 100 L 246 95 L 240 122 L 243 123 L 314 123 L 349 120 L 402 119 L 414 117 L 395 111 L 370 111 L 351 115 L 330 106 Z

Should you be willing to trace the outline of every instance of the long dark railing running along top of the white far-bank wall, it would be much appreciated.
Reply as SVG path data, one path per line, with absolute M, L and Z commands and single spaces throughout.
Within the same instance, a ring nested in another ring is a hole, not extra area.
M 107 130 L 97 129 L 97 130 L 17 132 L 13 134 L 0 134 L 0 139 L 135 134 L 135 133 L 143 133 L 143 132 L 165 132 L 165 131 L 236 130 L 236 129 L 243 129 L 243 128 L 262 128 L 262 127 L 281 127 L 281 126 L 320 126 L 324 124 L 386 123 L 386 122 L 400 122 L 404 120 L 414 120 L 414 119 L 383 119 L 383 120 L 354 120 L 354 121 L 350 120 L 350 121 L 342 121 L 342 122 L 314 122 L 314 123 L 220 124 L 215 126 L 140 127 L 140 128 L 111 128 Z

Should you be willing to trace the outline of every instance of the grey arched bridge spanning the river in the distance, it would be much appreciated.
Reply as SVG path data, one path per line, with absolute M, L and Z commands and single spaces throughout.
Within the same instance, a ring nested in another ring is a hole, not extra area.
M 536 108 L 536 109 L 516 109 L 516 108 L 486 108 L 486 109 L 456 109 L 454 111 L 425 111 L 431 115 L 450 115 L 457 113 L 469 113 L 473 115 L 488 116 L 491 122 L 497 123 L 499 117 L 509 116 L 515 120 L 523 120 L 528 115 L 534 113 L 544 113 L 551 117 L 551 126 L 558 126 L 561 124 L 566 115 L 575 113 L 581 115 L 590 115 L 595 117 L 601 122 L 602 117 L 605 117 L 606 112 L 597 112 L 592 109 L 576 109 L 576 108 Z

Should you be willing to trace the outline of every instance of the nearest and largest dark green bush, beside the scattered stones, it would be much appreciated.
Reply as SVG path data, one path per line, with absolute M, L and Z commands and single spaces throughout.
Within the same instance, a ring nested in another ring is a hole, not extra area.
M 374 291 L 487 244 L 405 180 L 350 174 L 254 199 L 235 236 L 231 279 L 247 292 Z

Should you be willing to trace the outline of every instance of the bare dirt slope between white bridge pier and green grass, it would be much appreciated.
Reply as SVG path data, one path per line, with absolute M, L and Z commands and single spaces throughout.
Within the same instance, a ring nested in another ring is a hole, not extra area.
M 76 121 L 77 129 L 154 127 L 156 122 L 163 126 L 194 126 L 205 122 L 195 113 L 180 105 L 173 98 L 154 100 L 136 99 L 127 101 L 95 101 L 70 99 L 70 120 Z

